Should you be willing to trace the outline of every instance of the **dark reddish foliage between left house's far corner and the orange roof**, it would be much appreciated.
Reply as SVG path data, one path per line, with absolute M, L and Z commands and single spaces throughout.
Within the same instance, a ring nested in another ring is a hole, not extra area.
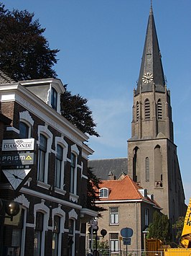
M 101 211 L 106 211 L 101 206 L 96 206 L 95 201 L 99 200 L 99 193 L 101 180 L 93 174 L 90 167 L 88 167 L 88 187 L 87 187 L 87 207 L 93 211 L 98 211 L 98 217 L 101 217 Z

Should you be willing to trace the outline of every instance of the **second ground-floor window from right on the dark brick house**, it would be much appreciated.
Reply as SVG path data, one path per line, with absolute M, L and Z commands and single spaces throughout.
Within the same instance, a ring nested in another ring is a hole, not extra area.
M 58 255 L 60 237 L 60 216 L 54 216 L 54 226 L 52 233 L 52 256 Z

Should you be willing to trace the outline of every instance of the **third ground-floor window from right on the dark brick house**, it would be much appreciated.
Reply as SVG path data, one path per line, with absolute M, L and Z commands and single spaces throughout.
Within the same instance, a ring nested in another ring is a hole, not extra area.
M 44 222 L 44 214 L 37 211 L 36 228 L 34 231 L 34 256 L 41 256 L 43 222 Z

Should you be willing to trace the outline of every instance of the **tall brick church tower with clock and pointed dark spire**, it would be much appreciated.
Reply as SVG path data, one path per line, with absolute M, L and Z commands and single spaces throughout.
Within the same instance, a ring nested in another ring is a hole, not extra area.
M 153 194 L 171 223 L 185 214 L 177 146 L 174 144 L 170 92 L 165 84 L 152 5 L 141 69 L 134 89 L 128 174 Z

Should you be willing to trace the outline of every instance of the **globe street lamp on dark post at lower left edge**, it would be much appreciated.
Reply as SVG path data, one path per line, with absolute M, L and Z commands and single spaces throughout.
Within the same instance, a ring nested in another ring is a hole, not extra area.
M 16 216 L 20 211 L 19 203 L 15 201 L 4 200 L 0 198 L 0 255 L 3 255 L 3 239 L 4 239 L 4 219 Z M 8 216 L 6 216 L 6 214 Z

